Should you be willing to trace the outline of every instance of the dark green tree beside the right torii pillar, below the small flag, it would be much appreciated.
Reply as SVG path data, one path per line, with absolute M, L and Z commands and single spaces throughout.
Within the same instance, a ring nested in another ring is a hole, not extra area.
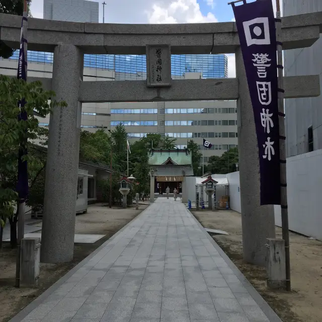
M 226 174 L 236 171 L 235 164 L 238 163 L 238 148 L 234 147 L 225 151 L 221 156 L 209 157 L 207 171 L 212 174 Z

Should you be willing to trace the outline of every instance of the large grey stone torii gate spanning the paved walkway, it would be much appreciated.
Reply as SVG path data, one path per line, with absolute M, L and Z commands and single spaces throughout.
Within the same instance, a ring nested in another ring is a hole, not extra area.
M 1 14 L 0 28 L 1 40 L 19 48 L 21 17 Z M 322 12 L 284 17 L 283 49 L 309 47 L 321 31 Z M 84 53 L 142 55 L 146 45 L 153 44 L 170 45 L 172 54 L 235 53 L 237 77 L 173 80 L 167 88 L 147 87 L 146 81 L 83 82 Z M 28 49 L 54 53 L 52 79 L 40 81 L 68 104 L 50 117 L 42 262 L 61 263 L 73 257 L 83 102 L 237 100 L 244 259 L 265 263 L 266 238 L 275 237 L 274 212 L 273 206 L 260 206 L 254 116 L 235 23 L 125 25 L 30 18 Z M 319 76 L 284 77 L 284 88 L 285 98 L 318 96 Z

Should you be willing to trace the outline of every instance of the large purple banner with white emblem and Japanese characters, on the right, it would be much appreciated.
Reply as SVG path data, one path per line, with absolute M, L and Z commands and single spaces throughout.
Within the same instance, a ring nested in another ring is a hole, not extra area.
M 232 4 L 232 9 L 254 111 L 261 205 L 280 205 L 277 44 L 272 0 L 244 0 L 242 5 Z

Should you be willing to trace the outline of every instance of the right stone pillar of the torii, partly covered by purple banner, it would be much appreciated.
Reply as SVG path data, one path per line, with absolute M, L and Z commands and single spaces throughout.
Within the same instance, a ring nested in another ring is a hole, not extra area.
M 274 206 L 260 205 L 260 167 L 254 113 L 240 47 L 235 56 L 239 96 L 237 125 L 244 260 L 265 266 L 266 238 L 275 238 Z

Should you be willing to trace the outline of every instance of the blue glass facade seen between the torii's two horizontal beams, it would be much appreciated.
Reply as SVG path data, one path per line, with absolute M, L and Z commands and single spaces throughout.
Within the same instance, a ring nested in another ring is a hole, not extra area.
M 10 59 L 18 60 L 16 50 Z M 53 63 L 53 53 L 28 50 L 28 61 Z M 202 78 L 227 77 L 227 56 L 220 55 L 172 55 L 171 72 L 184 78 L 186 72 L 201 72 Z M 114 70 L 120 73 L 117 80 L 146 79 L 145 55 L 84 55 L 84 67 Z

